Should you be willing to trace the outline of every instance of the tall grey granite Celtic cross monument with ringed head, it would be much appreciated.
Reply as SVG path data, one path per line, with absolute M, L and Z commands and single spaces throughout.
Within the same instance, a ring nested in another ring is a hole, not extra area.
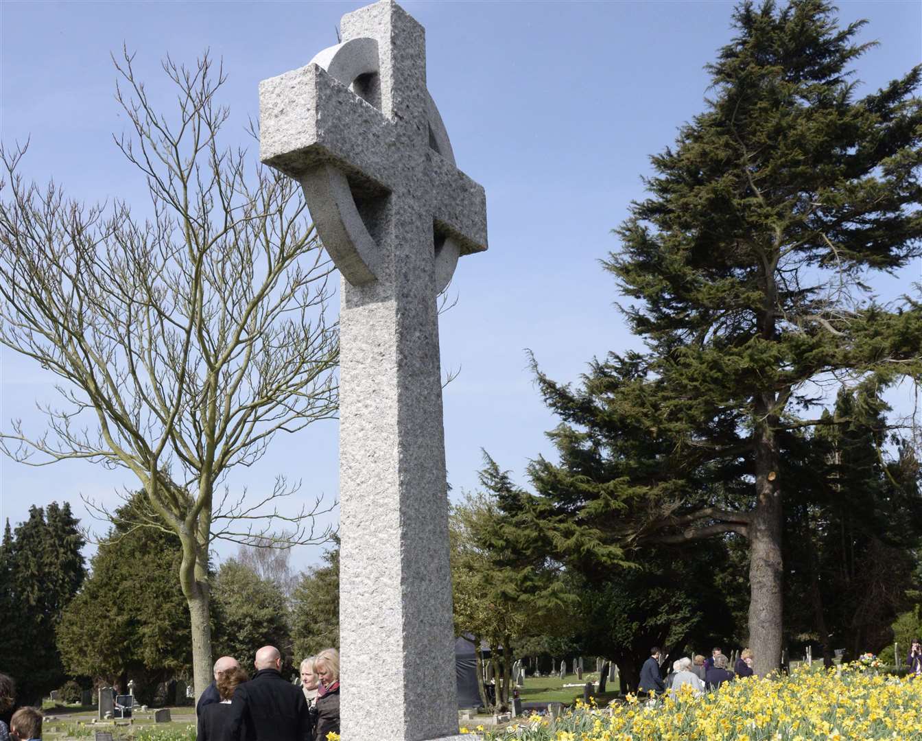
M 344 741 L 457 735 L 436 296 L 487 249 L 455 167 L 425 34 L 390 0 L 260 84 L 260 158 L 301 182 L 342 274 L 340 650 Z

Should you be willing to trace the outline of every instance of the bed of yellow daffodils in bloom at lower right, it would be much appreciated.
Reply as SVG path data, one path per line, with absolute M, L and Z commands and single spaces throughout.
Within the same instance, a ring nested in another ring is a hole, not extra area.
M 701 697 L 682 690 L 676 700 L 628 696 L 608 708 L 577 702 L 557 720 L 533 715 L 479 735 L 484 741 L 922 741 L 922 680 L 859 664 L 737 679 Z

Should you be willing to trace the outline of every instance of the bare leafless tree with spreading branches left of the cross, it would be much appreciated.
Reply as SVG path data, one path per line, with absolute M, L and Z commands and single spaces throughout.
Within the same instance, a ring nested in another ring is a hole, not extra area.
M 337 324 L 325 319 L 333 265 L 296 182 L 219 146 L 223 70 L 169 58 L 175 117 L 156 110 L 133 55 L 113 60 L 132 124 L 116 137 L 143 173 L 149 216 L 85 206 L 20 174 L 26 147 L 0 149 L 0 342 L 60 377 L 48 429 L 21 420 L 0 438 L 30 465 L 82 458 L 135 474 L 149 517 L 182 542 L 179 580 L 193 626 L 195 690 L 211 675 L 208 550 L 218 538 L 319 543 L 309 511 L 279 512 L 283 478 L 251 500 L 225 486 L 278 431 L 337 412 Z M 251 134 L 254 133 L 251 125 Z M 100 512 L 104 512 L 98 508 Z M 281 521 L 281 522 L 278 522 Z M 287 532 L 272 535 L 278 525 Z

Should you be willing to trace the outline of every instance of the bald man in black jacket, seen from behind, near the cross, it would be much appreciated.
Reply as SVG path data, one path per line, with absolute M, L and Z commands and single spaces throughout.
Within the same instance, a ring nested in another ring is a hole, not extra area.
M 254 666 L 253 678 L 233 693 L 230 741 L 312 741 L 304 693 L 282 678 L 278 649 L 263 646 L 256 652 Z

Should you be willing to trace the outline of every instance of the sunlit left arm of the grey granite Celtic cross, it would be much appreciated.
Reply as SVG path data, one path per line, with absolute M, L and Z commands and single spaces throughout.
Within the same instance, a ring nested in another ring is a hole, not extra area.
M 259 159 L 292 178 L 332 164 L 393 190 L 394 125 L 318 65 L 259 84 L 259 137 Z

